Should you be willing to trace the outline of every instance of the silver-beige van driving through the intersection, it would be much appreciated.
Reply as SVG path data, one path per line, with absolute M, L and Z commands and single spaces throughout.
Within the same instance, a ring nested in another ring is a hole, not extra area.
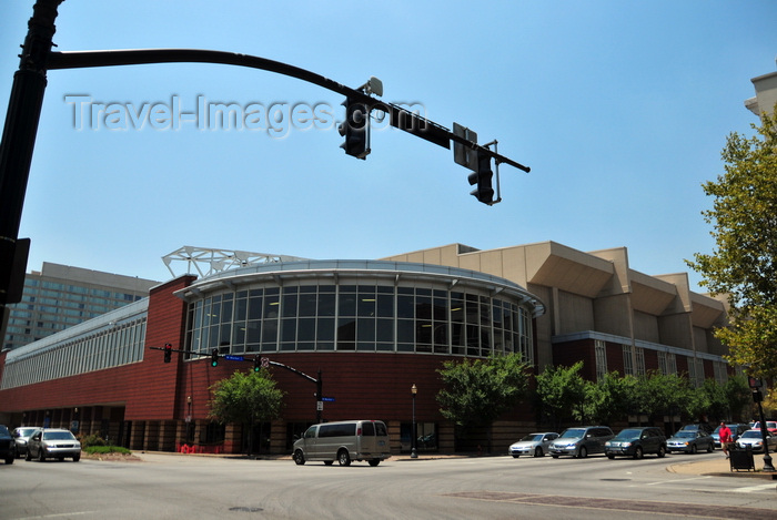
M 323 460 L 326 466 L 337 460 L 349 466 L 352 460 L 366 460 L 377 466 L 391 457 L 389 430 L 380 420 L 345 420 L 313 425 L 294 442 L 292 458 L 297 465 Z

